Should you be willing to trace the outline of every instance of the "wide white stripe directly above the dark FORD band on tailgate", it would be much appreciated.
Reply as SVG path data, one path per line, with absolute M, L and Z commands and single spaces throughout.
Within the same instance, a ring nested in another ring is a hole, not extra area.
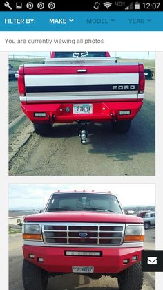
M 138 73 L 88 73 L 84 75 L 25 75 L 26 87 L 94 84 L 138 84 Z

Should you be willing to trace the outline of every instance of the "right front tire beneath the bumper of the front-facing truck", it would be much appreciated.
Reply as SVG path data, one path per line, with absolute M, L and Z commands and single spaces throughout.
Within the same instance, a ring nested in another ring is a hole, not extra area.
M 143 272 L 141 263 L 134 264 L 130 268 L 119 273 L 119 290 L 141 290 L 143 284 Z

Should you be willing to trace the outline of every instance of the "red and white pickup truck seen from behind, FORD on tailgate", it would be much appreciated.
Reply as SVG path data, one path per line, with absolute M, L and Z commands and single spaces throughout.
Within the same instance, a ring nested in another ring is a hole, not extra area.
M 144 66 L 118 63 L 106 52 L 56 52 L 44 64 L 19 67 L 23 112 L 35 132 L 50 134 L 55 123 L 78 122 L 81 143 L 87 123 L 111 121 L 126 133 L 144 98 Z

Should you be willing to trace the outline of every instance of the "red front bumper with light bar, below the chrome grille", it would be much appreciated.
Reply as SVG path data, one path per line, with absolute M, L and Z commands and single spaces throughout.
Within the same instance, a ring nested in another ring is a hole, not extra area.
M 51 273 L 72 273 L 73 266 L 94 266 L 94 273 L 119 273 L 140 262 L 142 247 L 137 248 L 55 248 L 48 246 L 23 246 L 26 260 Z M 66 256 L 65 251 L 101 251 L 101 257 Z M 34 258 L 30 258 L 34 255 Z M 137 260 L 133 261 L 133 256 Z M 39 258 L 43 262 L 39 262 Z M 128 264 L 123 260 L 128 259 Z

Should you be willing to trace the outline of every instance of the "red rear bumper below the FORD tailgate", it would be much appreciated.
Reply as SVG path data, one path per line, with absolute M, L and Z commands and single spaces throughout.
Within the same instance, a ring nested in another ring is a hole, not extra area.
M 74 102 L 77 104 L 78 102 Z M 84 102 L 80 102 L 84 103 Z M 109 120 L 132 120 L 142 107 L 142 100 L 139 101 L 118 101 L 118 102 L 93 102 L 85 101 L 87 104 L 93 104 L 92 114 L 73 114 L 72 102 L 60 103 L 26 103 L 21 102 L 21 109 L 33 123 L 72 123 L 79 120 L 102 122 Z M 68 110 L 70 111 L 66 111 Z M 129 115 L 120 115 L 119 111 L 131 111 Z M 46 117 L 35 117 L 35 113 L 44 112 Z

